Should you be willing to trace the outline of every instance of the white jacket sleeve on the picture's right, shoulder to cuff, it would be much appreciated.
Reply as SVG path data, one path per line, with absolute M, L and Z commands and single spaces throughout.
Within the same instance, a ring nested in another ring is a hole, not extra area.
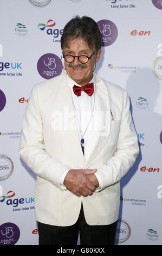
M 129 111 L 129 96 L 124 92 L 118 144 L 113 156 L 96 172 L 100 176 L 100 190 L 112 186 L 125 176 L 139 154 L 138 138 Z

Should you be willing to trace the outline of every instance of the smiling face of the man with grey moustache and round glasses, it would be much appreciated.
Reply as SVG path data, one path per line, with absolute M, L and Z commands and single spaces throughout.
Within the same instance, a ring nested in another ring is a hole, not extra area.
M 68 46 L 64 48 L 64 55 L 70 54 L 73 56 L 86 55 L 90 57 L 94 49 L 90 49 L 87 42 L 83 39 L 71 39 L 68 41 Z M 77 58 L 74 62 L 64 62 L 65 69 L 70 78 L 72 78 L 80 86 L 84 86 L 93 78 L 93 70 L 95 63 L 99 61 L 101 50 L 93 54 L 92 58 L 86 64 L 79 62 Z

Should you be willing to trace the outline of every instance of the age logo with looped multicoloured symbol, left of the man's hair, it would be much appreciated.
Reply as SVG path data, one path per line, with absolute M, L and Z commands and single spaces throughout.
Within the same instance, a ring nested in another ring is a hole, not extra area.
M 48 36 L 53 36 L 53 42 L 60 42 L 61 35 L 63 33 L 63 29 L 54 28 L 56 26 L 56 22 L 54 20 L 48 20 L 47 23 L 38 23 L 37 27 L 46 32 Z

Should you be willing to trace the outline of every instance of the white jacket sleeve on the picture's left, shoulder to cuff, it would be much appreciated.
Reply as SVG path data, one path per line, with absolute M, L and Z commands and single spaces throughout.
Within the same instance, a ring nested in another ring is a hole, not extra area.
M 37 86 L 31 90 L 23 118 L 22 137 L 18 153 L 36 175 L 51 182 L 54 186 L 64 189 L 61 186 L 61 176 L 70 167 L 51 157 L 45 150 Z

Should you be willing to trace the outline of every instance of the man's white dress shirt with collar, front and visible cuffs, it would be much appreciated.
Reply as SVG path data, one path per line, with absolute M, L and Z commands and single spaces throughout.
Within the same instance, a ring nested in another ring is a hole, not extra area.
M 94 148 L 96 139 L 99 135 L 98 102 L 96 101 L 95 97 L 95 76 L 93 75 L 92 80 L 89 82 L 94 84 L 94 93 L 92 94 L 92 96 L 89 96 L 83 91 L 81 92 L 80 96 L 75 95 L 73 92 L 74 84 L 79 87 L 81 86 L 74 82 L 72 78 L 70 78 L 68 75 L 67 82 L 72 90 L 76 127 L 80 141 L 81 138 L 84 138 L 84 156 L 85 160 L 87 161 L 90 154 L 92 153 L 92 149 Z M 63 181 L 70 169 L 71 168 L 68 168 L 62 175 L 62 189 L 66 189 Z M 99 181 L 99 187 L 95 190 L 95 192 L 98 192 L 101 184 L 101 179 L 98 174 L 94 174 Z

